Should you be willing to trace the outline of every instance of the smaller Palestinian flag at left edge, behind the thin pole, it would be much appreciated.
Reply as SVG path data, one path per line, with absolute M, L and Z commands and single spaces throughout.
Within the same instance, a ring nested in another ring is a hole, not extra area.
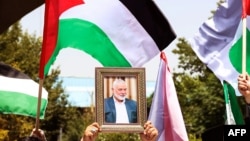
M 0 62 L 0 113 L 36 118 L 39 85 L 22 72 Z M 44 118 L 48 92 L 42 89 L 40 119 Z

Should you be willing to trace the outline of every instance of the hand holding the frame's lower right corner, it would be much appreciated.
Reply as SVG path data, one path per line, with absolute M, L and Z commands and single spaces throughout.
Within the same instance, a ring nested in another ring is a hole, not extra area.
M 158 136 L 158 130 L 152 125 L 151 121 L 147 121 L 144 124 L 144 131 L 140 133 L 142 141 L 156 141 Z

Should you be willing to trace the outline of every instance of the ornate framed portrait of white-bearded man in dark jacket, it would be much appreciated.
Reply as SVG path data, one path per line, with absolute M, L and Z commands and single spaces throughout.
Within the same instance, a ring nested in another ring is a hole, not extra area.
M 145 86 L 145 68 L 95 68 L 95 117 L 102 132 L 143 132 Z

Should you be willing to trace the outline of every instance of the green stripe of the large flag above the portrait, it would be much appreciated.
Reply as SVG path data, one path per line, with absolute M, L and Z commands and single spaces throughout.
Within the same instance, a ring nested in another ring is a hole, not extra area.
M 49 71 L 59 51 L 67 47 L 90 54 L 104 66 L 131 67 L 130 63 L 99 27 L 82 19 L 63 19 L 60 20 L 57 46 L 46 64 L 45 72 Z

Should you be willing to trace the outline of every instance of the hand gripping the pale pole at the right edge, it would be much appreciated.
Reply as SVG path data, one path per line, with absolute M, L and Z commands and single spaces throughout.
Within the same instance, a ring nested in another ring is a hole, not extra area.
M 250 104 L 250 79 L 248 74 L 238 76 L 238 90 L 245 98 L 246 103 Z

